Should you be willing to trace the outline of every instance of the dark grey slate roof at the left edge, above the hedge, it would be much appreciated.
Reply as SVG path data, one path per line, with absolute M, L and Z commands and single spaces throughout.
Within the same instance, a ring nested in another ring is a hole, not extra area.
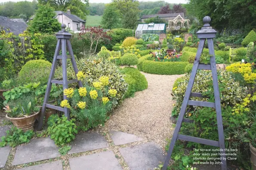
M 6 32 L 11 32 L 14 35 L 19 35 L 27 29 L 28 25 L 25 23 L 24 20 L 23 22 L 18 22 L 8 19 L 0 20 L 0 27 L 3 27 L 3 30 L 5 30 Z

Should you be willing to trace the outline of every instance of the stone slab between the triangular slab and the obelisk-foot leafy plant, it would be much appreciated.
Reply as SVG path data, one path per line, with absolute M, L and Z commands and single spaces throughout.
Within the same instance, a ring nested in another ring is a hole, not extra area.
M 108 147 L 108 141 L 98 133 L 84 133 L 77 135 L 74 142 L 71 144 L 71 149 L 68 154 L 86 152 L 95 149 Z

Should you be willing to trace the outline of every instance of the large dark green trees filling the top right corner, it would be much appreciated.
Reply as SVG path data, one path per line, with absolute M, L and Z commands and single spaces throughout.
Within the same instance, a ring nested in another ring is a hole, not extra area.
M 248 33 L 256 27 L 255 0 L 189 0 L 186 9 L 200 21 L 204 16 L 210 16 L 211 25 L 217 30 L 230 28 Z

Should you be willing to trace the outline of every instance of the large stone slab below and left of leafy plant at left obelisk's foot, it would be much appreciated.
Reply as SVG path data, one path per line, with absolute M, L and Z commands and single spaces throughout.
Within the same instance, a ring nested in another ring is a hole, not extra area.
M 59 149 L 50 137 L 31 140 L 30 143 L 18 146 L 12 165 L 42 161 L 60 156 Z

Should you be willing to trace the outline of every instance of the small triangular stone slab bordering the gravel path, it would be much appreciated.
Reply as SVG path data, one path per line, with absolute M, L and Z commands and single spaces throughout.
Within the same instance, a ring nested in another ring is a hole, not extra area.
M 110 137 L 116 146 L 143 140 L 134 134 L 128 134 L 121 131 L 109 131 L 109 133 L 111 134 Z

